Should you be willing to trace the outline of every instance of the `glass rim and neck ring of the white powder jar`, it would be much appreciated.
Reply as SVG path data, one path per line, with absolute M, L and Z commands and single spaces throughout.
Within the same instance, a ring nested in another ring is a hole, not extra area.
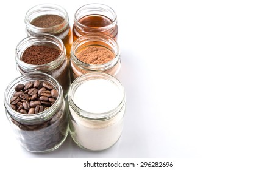
M 105 80 L 111 81 L 116 85 L 116 87 L 118 87 L 122 96 L 118 106 L 116 106 L 112 110 L 108 110 L 107 112 L 96 113 L 96 112 L 88 112 L 87 110 L 83 110 L 74 103 L 73 97 L 77 88 L 80 85 L 82 85 L 85 81 L 93 80 L 93 79 L 105 79 Z M 76 80 L 74 80 L 73 83 L 71 84 L 68 92 L 68 103 L 73 110 L 76 110 L 77 115 L 79 115 L 80 117 L 84 117 L 94 121 L 108 120 L 114 117 L 116 114 L 118 114 L 119 110 L 122 110 L 123 107 L 126 106 L 126 93 L 124 92 L 124 87 L 122 86 L 120 81 L 117 78 L 113 77 L 112 75 L 109 75 L 107 73 L 86 73 L 84 75 L 81 75 L 80 77 L 77 77 Z

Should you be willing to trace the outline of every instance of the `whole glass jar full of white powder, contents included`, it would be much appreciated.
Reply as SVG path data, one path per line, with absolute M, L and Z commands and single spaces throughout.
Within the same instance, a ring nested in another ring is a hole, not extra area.
M 126 94 L 112 75 L 87 73 L 76 78 L 70 86 L 68 103 L 69 132 L 80 148 L 101 151 L 121 137 Z

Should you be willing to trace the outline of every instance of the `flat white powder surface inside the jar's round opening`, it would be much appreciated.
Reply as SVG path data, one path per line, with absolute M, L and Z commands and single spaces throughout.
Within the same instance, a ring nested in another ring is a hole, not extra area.
M 115 109 L 122 101 L 122 93 L 112 81 L 99 78 L 77 87 L 73 101 L 80 109 L 97 114 Z

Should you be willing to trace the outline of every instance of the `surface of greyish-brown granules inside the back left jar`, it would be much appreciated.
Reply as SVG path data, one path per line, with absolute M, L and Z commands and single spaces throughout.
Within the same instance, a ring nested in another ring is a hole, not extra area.
M 54 27 L 55 25 L 59 25 L 62 23 L 64 19 L 59 15 L 41 15 L 35 18 L 30 24 L 41 27 L 41 28 L 49 28 Z

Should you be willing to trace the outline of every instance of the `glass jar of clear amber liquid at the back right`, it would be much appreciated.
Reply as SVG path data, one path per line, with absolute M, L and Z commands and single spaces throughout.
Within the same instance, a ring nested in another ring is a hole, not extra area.
M 88 33 L 103 33 L 117 40 L 115 11 L 104 4 L 87 4 L 80 7 L 74 15 L 73 41 Z

